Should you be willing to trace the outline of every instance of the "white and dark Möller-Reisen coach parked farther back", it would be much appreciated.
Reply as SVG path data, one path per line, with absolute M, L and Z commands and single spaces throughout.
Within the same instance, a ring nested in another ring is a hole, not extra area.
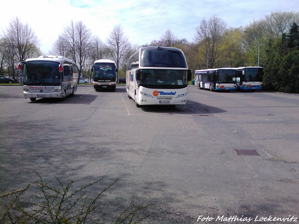
M 96 60 L 91 68 L 93 71 L 94 89 L 112 89 L 116 88 L 116 64 L 112 60 Z

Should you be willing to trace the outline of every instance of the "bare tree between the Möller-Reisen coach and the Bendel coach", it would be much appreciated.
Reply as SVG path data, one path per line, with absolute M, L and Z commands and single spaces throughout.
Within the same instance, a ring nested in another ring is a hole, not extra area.
M 123 29 L 120 27 L 120 25 L 117 25 L 113 28 L 113 30 L 109 34 L 109 37 L 106 40 L 106 42 L 107 42 L 108 50 L 112 58 L 115 60 L 117 64 L 117 68 L 118 68 L 117 83 L 118 83 L 120 60 L 126 54 L 129 41 L 128 38 L 125 36 Z

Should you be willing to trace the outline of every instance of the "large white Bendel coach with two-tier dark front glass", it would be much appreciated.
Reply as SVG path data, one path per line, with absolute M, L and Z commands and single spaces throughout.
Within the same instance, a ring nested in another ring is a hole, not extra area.
M 137 107 L 185 105 L 191 71 L 175 47 L 142 47 L 128 60 L 126 90 Z

